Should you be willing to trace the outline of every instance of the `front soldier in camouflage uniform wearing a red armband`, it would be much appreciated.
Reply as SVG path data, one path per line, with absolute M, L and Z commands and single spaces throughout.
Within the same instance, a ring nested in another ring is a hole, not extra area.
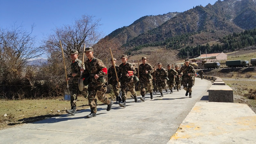
M 107 86 L 105 85 L 107 80 L 105 76 L 107 76 L 108 71 L 106 66 L 101 60 L 93 57 L 93 49 L 91 47 L 85 48 L 85 55 L 88 59 L 85 61 L 84 74 L 90 75 L 88 101 L 89 106 L 91 107 L 91 113 L 86 117 L 91 118 L 96 116 L 97 112 L 97 105 L 95 103 L 96 94 L 102 103 L 108 105 L 107 111 L 111 110 L 113 101 L 109 100 L 105 95 L 105 92 L 107 92 Z

